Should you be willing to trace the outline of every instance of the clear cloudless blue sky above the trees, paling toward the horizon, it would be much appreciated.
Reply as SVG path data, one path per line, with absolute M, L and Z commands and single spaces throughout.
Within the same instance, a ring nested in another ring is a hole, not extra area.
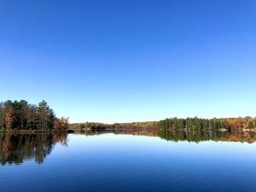
M 0 0 L 0 100 L 71 122 L 256 116 L 256 1 Z

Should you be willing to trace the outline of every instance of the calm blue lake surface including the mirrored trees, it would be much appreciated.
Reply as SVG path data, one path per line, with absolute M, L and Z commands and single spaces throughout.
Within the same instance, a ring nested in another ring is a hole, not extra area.
M 255 191 L 246 132 L 0 134 L 1 191 Z

